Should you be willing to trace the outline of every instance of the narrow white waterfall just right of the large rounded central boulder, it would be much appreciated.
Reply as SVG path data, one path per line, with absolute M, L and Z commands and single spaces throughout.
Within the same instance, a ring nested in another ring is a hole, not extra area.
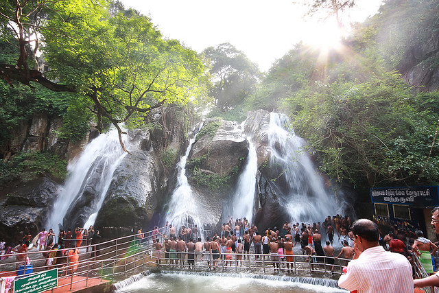
M 233 218 L 246 218 L 252 223 L 254 213 L 254 196 L 256 191 L 256 174 L 258 159 L 256 148 L 251 138 L 248 140 L 248 157 L 246 166 L 237 180 L 235 195 L 233 196 Z

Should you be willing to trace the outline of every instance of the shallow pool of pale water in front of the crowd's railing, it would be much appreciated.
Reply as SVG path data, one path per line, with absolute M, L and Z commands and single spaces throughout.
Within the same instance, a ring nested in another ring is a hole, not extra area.
M 129 280 L 129 281 L 128 281 Z M 117 293 L 144 292 L 346 292 L 337 281 L 254 274 L 162 272 L 139 274 L 115 284 Z

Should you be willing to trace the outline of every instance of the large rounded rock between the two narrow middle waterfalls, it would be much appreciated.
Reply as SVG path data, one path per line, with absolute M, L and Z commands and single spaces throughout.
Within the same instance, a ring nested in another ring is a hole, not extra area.
M 235 121 L 207 119 L 204 122 L 187 163 L 187 176 L 204 224 L 215 226 L 220 222 L 247 156 L 244 129 Z

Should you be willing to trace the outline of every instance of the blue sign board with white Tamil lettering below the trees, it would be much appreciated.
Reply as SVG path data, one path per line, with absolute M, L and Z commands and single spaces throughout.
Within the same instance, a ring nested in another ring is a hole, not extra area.
M 386 204 L 436 207 L 439 205 L 439 186 L 375 187 L 370 189 L 370 199 Z

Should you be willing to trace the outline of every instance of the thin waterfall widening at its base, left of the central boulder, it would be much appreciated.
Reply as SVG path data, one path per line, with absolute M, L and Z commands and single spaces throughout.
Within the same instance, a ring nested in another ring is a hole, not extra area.
M 186 176 L 187 156 L 189 156 L 189 152 L 191 152 L 196 137 L 197 133 L 195 133 L 189 140 L 189 145 L 187 146 L 185 155 L 181 157 L 180 162 L 177 165 L 177 184 L 171 195 L 166 220 L 176 228 L 176 231 L 179 231 L 183 225 L 187 227 L 191 226 L 191 224 L 196 224 L 200 235 L 203 235 L 203 224 L 200 218 L 203 211 L 195 199 L 195 194 L 193 193 Z

